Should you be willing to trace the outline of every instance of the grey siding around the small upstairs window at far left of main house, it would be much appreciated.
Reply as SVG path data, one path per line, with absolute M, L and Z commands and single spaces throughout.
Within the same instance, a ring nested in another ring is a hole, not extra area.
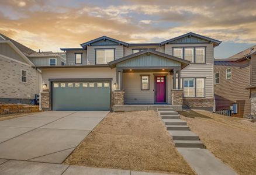
M 87 50 L 67 51 L 67 65 L 75 65 L 75 53 L 82 53 L 82 65 L 87 65 Z M 79 64 L 81 65 L 81 64 Z

